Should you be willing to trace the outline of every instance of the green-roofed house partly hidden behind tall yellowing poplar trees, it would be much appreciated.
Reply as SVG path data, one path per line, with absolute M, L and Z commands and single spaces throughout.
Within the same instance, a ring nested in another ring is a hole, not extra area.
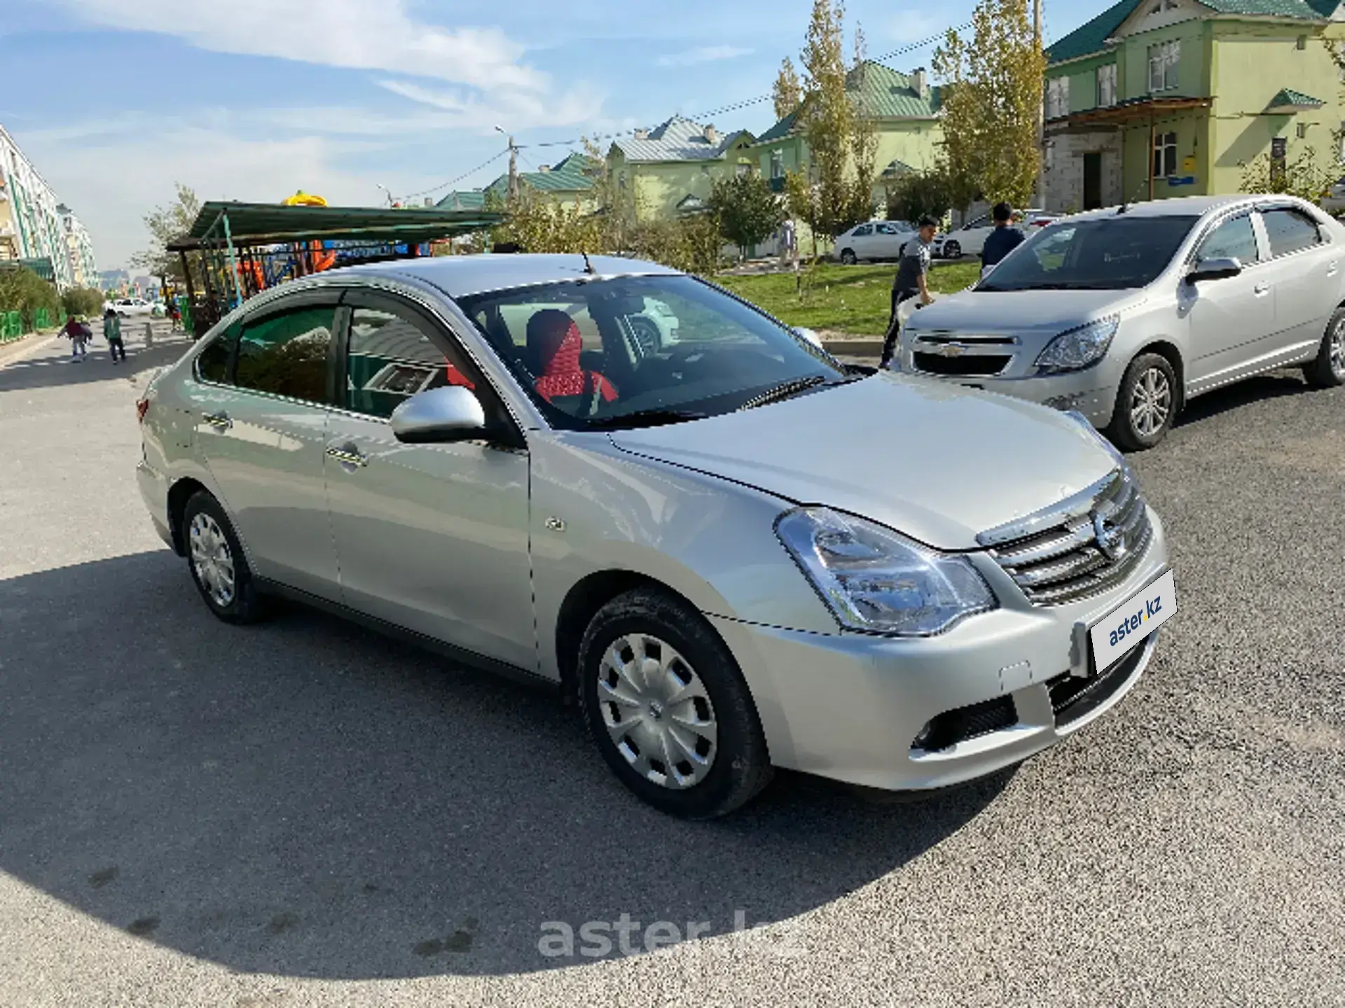
M 881 203 L 885 179 L 933 165 L 943 138 L 937 118 L 939 89 L 929 86 L 923 69 L 902 74 L 865 60 L 846 77 L 846 90 L 878 133 L 880 179 L 874 200 Z M 757 137 L 755 151 L 761 173 L 777 191 L 784 188 L 785 172 L 807 171 L 808 145 L 799 113 L 790 113 Z

